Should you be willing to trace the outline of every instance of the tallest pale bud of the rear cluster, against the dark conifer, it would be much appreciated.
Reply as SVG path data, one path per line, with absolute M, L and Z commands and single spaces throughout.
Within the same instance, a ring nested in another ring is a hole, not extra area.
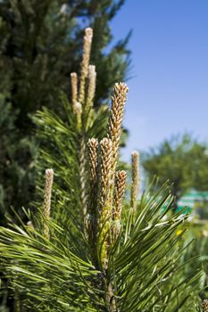
M 82 56 L 82 62 L 81 62 L 80 85 L 79 85 L 79 102 L 80 103 L 85 102 L 85 83 L 86 83 L 86 78 L 87 78 L 92 38 L 93 38 L 93 29 L 90 29 L 90 28 L 85 29 L 83 56 Z

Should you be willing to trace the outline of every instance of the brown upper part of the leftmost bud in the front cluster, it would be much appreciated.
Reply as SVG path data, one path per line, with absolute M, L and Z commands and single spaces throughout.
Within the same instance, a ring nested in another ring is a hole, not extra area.
M 96 181 L 96 168 L 97 168 L 98 140 L 95 138 L 89 139 L 87 146 L 88 146 L 88 154 L 89 154 L 90 180 L 95 183 L 95 181 Z

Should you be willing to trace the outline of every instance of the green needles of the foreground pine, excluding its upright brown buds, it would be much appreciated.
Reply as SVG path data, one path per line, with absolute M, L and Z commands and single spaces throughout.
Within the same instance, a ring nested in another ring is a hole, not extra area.
M 82 216 L 79 139 L 104 135 L 108 114 L 104 108 L 92 110 L 89 124 L 82 114 L 79 127 L 71 104 L 65 97 L 62 103 L 68 122 L 46 109 L 36 117 L 46 143 L 39 163 L 55 169 L 51 218 L 45 218 L 40 208 L 26 212 L 32 228 L 21 219 L 21 226 L 11 222 L 9 228 L 0 227 L 2 268 L 19 296 L 21 311 L 199 311 L 204 274 L 197 266 L 187 270 L 195 261 L 186 259 L 187 249 L 181 243 L 187 217 L 171 214 L 173 197 L 167 183 L 156 193 L 146 191 L 136 210 L 125 203 L 121 232 L 114 242 L 109 232 L 100 239 L 103 227 L 98 236 L 91 235 Z M 86 164 L 87 169 L 89 160 Z M 87 202 L 95 206 L 99 218 L 100 190 L 95 196 L 87 183 L 86 191 Z M 89 212 L 89 224 L 91 220 Z M 43 234 L 45 225 L 50 238 Z M 111 218 L 110 231 L 112 226 Z M 105 242 L 109 244 L 107 267 L 103 265 Z

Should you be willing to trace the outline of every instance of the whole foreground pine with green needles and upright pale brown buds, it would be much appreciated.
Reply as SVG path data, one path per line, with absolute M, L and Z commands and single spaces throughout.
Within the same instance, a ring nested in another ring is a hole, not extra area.
M 194 312 L 202 272 L 183 275 L 187 217 L 169 213 L 168 183 L 137 200 L 137 152 L 131 200 L 124 199 L 127 174 L 118 160 L 128 87 L 115 84 L 110 111 L 93 108 L 91 43 L 86 29 L 81 74 L 71 74 L 71 103 L 62 99 L 68 120 L 37 114 L 43 137 L 53 136 L 42 153 L 50 165 L 44 203 L 25 211 L 27 225 L 0 227 L 2 269 L 21 311 Z

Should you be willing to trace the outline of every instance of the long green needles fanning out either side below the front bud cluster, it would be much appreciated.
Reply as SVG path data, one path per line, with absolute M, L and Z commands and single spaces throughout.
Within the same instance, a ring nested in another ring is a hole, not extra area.
M 23 224 L 1 228 L 5 272 L 12 279 L 12 289 L 24 298 L 21 311 L 112 311 L 105 300 L 110 281 L 116 302 L 113 311 L 196 311 L 203 275 L 196 270 L 183 276 L 185 251 L 176 232 L 186 218 L 172 217 L 167 210 L 162 215 L 163 205 L 171 207 L 171 201 L 169 187 L 164 185 L 154 197 L 144 194 L 135 217 L 126 206 L 129 217 L 123 216 L 107 272 L 93 263 L 82 231 L 78 243 L 71 227 L 51 220 L 51 240 L 47 241 L 41 229 L 48 221 L 41 211 L 29 217 L 35 229 Z M 56 203 L 55 214 L 60 208 L 67 206 Z M 95 244 L 95 252 L 96 248 Z

